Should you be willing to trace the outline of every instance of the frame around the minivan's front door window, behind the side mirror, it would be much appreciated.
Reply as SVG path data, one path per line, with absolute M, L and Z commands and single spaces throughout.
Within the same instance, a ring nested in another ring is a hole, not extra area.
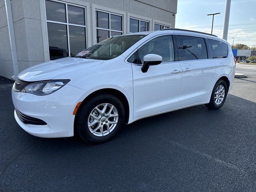
M 161 36 L 171 36 L 172 37 L 172 44 L 173 44 L 173 51 L 174 51 L 174 61 L 170 61 L 170 62 L 161 62 L 161 64 L 170 64 L 170 63 L 173 63 L 173 62 L 179 62 L 178 61 L 178 48 L 177 48 L 177 43 L 176 43 L 176 38 L 175 38 L 175 35 L 174 34 L 159 34 L 159 35 L 156 35 L 154 37 L 151 37 L 150 39 L 144 41 L 142 44 L 140 44 L 137 48 L 135 48 L 124 60 L 124 62 L 128 63 L 128 64 L 132 64 L 132 65 L 139 65 L 139 66 L 143 66 L 143 63 L 142 64 L 138 64 L 138 63 L 131 63 L 131 62 L 128 62 L 127 60 L 130 58 L 130 56 L 132 56 L 136 51 L 138 51 L 138 49 L 140 49 L 144 44 L 150 42 L 151 40 L 155 39 L 155 38 L 158 38 L 158 37 L 161 37 Z M 138 60 L 138 52 L 137 52 L 137 60 Z

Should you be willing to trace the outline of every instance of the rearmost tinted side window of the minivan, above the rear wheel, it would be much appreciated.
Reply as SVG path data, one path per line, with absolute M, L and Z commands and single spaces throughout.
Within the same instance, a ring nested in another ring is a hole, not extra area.
M 228 45 L 224 42 L 209 39 L 212 50 L 212 58 L 226 58 L 228 56 Z

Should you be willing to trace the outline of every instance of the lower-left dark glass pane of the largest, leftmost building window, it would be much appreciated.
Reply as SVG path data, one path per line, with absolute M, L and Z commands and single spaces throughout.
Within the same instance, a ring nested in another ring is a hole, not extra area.
M 68 56 L 66 25 L 47 23 L 50 60 Z

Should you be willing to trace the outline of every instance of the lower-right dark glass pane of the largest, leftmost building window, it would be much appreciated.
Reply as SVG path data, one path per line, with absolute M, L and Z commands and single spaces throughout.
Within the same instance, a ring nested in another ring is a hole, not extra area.
M 77 54 L 86 48 L 84 27 L 69 26 L 69 44 L 70 56 Z

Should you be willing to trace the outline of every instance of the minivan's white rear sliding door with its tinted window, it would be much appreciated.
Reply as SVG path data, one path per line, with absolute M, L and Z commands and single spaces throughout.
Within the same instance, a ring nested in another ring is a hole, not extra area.
M 214 60 L 208 59 L 206 40 L 186 35 L 176 39 L 182 68 L 180 107 L 204 102 L 212 92 L 216 74 Z

